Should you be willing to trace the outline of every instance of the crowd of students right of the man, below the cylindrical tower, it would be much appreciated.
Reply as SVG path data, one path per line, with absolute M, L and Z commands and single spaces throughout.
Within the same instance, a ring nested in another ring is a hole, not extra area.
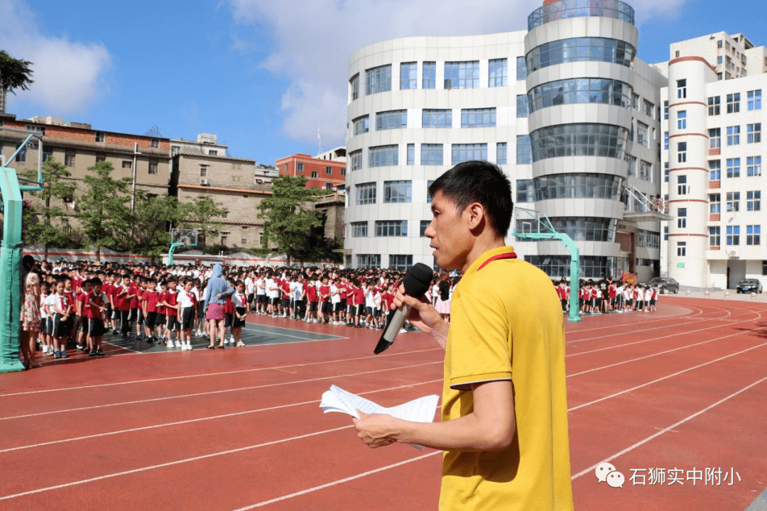
M 570 287 L 565 279 L 552 281 L 555 285 L 562 310 L 570 310 Z M 578 282 L 578 310 L 581 314 L 627 313 L 657 310 L 660 289 L 649 284 L 611 280 L 603 275 L 601 280 Z

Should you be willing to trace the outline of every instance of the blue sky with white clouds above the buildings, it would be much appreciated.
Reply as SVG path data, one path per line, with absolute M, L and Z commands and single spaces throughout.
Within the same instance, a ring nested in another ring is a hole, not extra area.
M 728 31 L 767 44 L 767 2 L 641 0 L 639 57 Z M 525 28 L 540 0 L 0 0 L 0 48 L 35 62 L 20 118 L 171 138 L 217 133 L 230 154 L 272 163 L 344 143 L 348 59 L 382 39 Z M 384 22 L 381 22 L 384 20 Z

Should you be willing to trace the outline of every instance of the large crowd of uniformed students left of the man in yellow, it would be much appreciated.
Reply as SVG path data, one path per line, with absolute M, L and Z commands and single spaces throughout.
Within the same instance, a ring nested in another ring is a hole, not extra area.
M 381 268 L 225 267 L 222 277 L 234 292 L 225 296 L 224 328 L 217 331 L 205 313 L 211 267 L 32 260 L 27 269 L 21 323 L 28 367 L 38 365 L 38 351 L 54 359 L 72 349 L 102 356 L 109 333 L 167 349 L 193 349 L 195 338 L 209 339 L 209 349 L 245 346 L 248 313 L 383 329 L 404 275 Z M 454 287 L 443 272 L 426 294 L 446 318 Z

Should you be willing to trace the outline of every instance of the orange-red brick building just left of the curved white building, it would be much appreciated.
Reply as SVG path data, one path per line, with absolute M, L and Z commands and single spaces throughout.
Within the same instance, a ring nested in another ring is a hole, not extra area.
M 338 190 L 346 186 L 346 148 L 337 147 L 318 156 L 300 152 L 275 162 L 281 175 L 304 175 L 306 188 Z

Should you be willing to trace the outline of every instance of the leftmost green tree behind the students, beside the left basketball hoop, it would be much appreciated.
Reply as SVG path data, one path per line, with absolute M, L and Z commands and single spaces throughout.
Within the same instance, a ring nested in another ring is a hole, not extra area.
M 74 199 L 74 183 L 67 182 L 72 173 L 67 167 L 52 157 L 43 162 L 43 189 L 41 192 L 26 192 L 41 198 L 42 205 L 33 203 L 28 208 L 28 215 L 25 220 L 25 233 L 28 241 L 40 243 L 45 246 L 45 260 L 48 260 L 48 247 L 68 247 L 71 246 L 71 225 L 69 215 L 65 208 L 58 205 L 51 205 L 51 201 L 64 201 L 64 199 Z M 24 172 L 30 179 L 38 179 L 35 171 Z M 25 214 L 27 211 L 25 211 Z M 37 221 L 31 221 L 35 218 Z M 67 234 L 69 233 L 69 234 Z

